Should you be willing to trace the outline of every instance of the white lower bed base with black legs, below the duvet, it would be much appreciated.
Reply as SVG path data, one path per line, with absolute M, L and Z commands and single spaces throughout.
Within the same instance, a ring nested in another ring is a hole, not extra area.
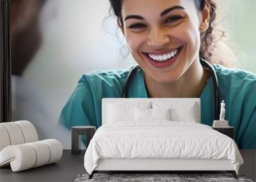
M 226 171 L 237 179 L 236 171 L 230 160 L 205 159 L 105 159 L 99 160 L 98 166 L 90 174 L 97 172 L 114 173 L 220 173 Z

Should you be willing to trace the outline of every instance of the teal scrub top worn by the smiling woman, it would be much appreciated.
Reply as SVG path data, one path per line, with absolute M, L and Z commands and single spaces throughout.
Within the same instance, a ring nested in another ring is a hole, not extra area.
M 240 149 L 256 149 L 256 75 L 214 64 L 219 79 L 220 101 L 225 100 L 225 119 L 235 128 Z M 86 73 L 61 111 L 59 122 L 70 129 L 77 125 L 101 126 L 102 98 L 121 98 L 127 70 Z M 132 77 L 129 98 L 148 98 L 142 70 Z M 209 77 L 201 99 L 201 123 L 212 126 L 214 86 Z

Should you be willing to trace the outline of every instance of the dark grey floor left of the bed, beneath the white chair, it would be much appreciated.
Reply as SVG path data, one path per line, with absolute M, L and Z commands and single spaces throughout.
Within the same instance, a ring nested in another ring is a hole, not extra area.
M 60 161 L 26 171 L 12 172 L 10 167 L 0 168 L 0 181 L 74 181 L 78 174 L 86 173 L 84 153 L 72 155 L 70 150 L 63 150 Z

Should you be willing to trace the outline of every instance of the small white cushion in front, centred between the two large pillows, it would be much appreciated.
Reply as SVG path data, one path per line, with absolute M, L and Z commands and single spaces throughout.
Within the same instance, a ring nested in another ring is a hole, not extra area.
M 135 108 L 136 121 L 170 120 L 170 109 Z

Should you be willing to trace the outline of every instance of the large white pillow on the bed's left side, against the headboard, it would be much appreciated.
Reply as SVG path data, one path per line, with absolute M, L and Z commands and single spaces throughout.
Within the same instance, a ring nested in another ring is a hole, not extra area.
M 118 121 L 135 121 L 135 108 L 150 108 L 150 102 L 139 103 L 108 103 L 106 121 L 118 122 Z

